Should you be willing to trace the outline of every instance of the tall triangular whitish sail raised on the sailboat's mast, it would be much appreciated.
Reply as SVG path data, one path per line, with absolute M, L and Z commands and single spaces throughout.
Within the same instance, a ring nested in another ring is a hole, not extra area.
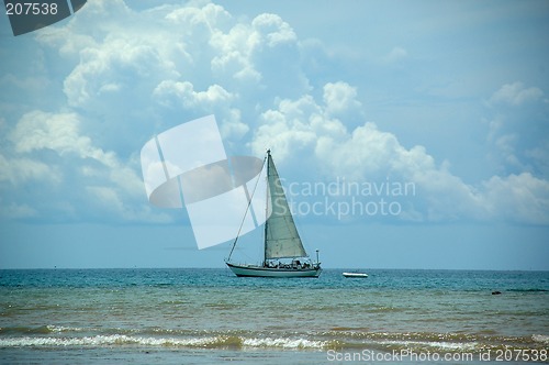
M 267 172 L 270 195 L 267 211 L 270 217 L 265 223 L 265 259 L 306 257 L 270 154 L 267 156 Z

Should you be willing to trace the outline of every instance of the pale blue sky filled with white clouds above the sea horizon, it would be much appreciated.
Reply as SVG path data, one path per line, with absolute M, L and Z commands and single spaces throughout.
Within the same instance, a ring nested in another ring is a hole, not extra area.
M 271 150 L 324 267 L 549 270 L 547 34 L 533 0 L 89 0 L 20 36 L 2 14 L 0 268 L 223 267 L 139 161 L 214 114 L 227 156 Z

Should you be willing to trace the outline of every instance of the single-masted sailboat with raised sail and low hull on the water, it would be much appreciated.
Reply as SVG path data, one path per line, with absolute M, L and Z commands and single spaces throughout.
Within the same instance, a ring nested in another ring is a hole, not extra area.
M 267 166 L 266 214 L 268 218 L 265 222 L 264 261 L 260 265 L 232 263 L 231 256 L 238 241 L 237 236 L 225 263 L 236 276 L 318 277 L 322 272 L 318 250 L 316 250 L 314 263 L 301 242 L 270 150 L 267 151 L 265 165 Z

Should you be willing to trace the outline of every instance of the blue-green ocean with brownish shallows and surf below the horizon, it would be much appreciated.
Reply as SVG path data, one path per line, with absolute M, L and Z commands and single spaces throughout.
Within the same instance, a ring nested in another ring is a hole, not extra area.
M 549 362 L 549 272 L 343 272 L 0 270 L 0 363 Z

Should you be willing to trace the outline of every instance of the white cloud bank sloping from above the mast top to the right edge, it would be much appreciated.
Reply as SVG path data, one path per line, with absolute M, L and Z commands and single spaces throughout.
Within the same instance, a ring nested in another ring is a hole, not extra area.
M 332 88 L 325 86 L 328 92 L 323 103 L 304 96 L 282 100 L 276 110 L 262 113 L 264 124 L 251 143 L 254 151 L 259 154 L 271 147 L 282 163 L 314 154 L 314 169 L 333 180 L 413 182 L 417 193 L 406 202 L 400 215 L 404 220 L 549 223 L 549 181 L 524 173 L 466 184 L 451 174 L 447 162 L 437 165 L 425 147 L 406 148 L 394 134 L 372 122 L 347 131 L 330 117 L 340 104 L 338 98 L 330 97 Z M 348 104 L 355 104 L 355 95 L 348 96 Z M 301 166 L 307 168 L 304 163 Z

